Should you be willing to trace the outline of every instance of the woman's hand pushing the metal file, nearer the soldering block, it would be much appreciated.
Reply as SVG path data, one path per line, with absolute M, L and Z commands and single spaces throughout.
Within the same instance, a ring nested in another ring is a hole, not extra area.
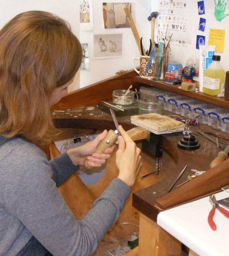
M 118 137 L 118 151 L 116 152 L 116 165 L 119 169 L 118 178 L 126 183 L 127 186 L 132 187 L 142 167 L 141 150 L 122 126 L 118 128 L 122 135 Z

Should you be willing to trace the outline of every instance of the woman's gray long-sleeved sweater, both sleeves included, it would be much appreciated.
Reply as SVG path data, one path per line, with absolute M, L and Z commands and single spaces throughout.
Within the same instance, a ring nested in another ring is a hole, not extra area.
M 17 255 L 32 235 L 54 256 L 95 251 L 130 188 L 114 179 L 85 217 L 76 220 L 57 189 L 76 170 L 66 153 L 48 162 L 40 148 L 23 139 L 0 146 L 0 256 Z

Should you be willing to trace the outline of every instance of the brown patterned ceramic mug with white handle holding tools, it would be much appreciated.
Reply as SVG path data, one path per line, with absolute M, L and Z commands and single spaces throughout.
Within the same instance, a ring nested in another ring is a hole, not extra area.
M 150 68 L 148 69 L 148 71 L 145 74 L 145 70 L 146 70 L 149 59 L 150 59 L 150 56 L 140 55 L 140 57 L 134 57 L 133 60 L 132 60 L 132 63 L 133 63 L 134 70 L 140 75 L 140 77 L 153 79 L 153 77 L 154 77 L 153 62 L 150 65 Z M 137 70 L 137 68 L 135 67 L 135 60 L 139 60 L 139 62 L 140 62 L 139 70 Z

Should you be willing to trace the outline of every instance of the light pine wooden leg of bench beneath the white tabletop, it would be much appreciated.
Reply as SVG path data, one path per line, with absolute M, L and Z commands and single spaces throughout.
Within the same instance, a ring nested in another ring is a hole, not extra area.
M 140 213 L 139 256 L 179 256 L 181 242 Z

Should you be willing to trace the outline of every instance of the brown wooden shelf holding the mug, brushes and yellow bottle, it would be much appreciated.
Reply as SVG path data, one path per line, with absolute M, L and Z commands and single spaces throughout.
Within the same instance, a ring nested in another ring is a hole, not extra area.
M 205 93 L 201 92 L 194 92 L 194 91 L 184 91 L 178 88 L 178 85 L 166 85 L 163 82 L 148 80 L 141 77 L 135 77 L 135 82 L 141 83 L 143 85 L 150 85 L 156 88 L 160 88 L 166 91 L 172 91 L 173 93 L 178 93 L 180 95 L 184 95 L 190 98 L 198 99 L 200 101 L 205 101 L 207 103 L 211 103 L 223 108 L 229 108 L 229 101 L 225 101 L 223 97 L 218 98 L 215 96 L 210 96 Z

